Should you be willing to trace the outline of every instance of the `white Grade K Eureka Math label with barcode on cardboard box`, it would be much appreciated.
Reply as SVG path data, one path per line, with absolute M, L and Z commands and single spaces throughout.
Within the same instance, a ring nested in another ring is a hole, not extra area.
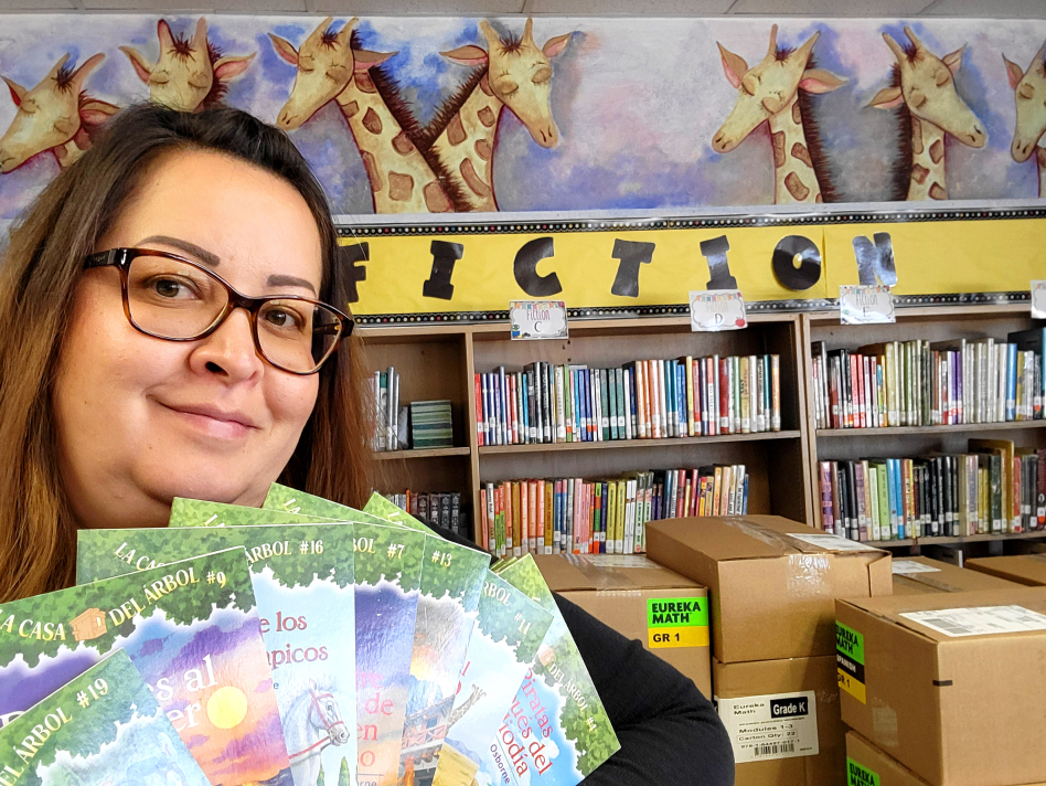
M 820 752 L 818 700 L 812 690 L 716 699 L 716 704 L 737 764 Z

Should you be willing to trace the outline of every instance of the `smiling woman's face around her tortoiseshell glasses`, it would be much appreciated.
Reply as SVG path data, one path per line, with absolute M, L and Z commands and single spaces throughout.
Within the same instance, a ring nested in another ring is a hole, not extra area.
M 95 251 L 116 247 L 204 263 L 246 295 L 320 290 L 320 235 L 301 195 L 215 152 L 160 159 Z M 86 272 L 74 299 L 53 406 L 78 524 L 162 525 L 173 497 L 260 504 L 312 413 L 318 376 L 263 361 L 243 309 L 199 341 L 139 332 L 115 267 Z

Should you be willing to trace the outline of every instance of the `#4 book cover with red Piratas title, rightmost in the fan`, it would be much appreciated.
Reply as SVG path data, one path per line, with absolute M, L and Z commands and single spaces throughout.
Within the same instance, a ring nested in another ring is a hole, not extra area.
M 537 661 L 516 693 L 494 744 L 522 786 L 576 786 L 621 747 L 552 591 L 531 555 L 494 571 L 552 614 Z M 513 754 L 514 755 L 511 755 Z M 526 773 L 532 773 L 530 780 Z

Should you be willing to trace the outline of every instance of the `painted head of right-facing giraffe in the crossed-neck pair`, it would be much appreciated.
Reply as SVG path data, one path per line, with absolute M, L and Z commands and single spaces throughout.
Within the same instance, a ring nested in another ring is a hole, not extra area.
M 480 30 L 487 49 L 461 46 L 442 55 L 460 65 L 485 65 L 494 96 L 520 118 L 534 141 L 544 148 L 559 142 L 559 129 L 552 117 L 552 62 L 574 33 L 548 39 L 541 49 L 534 43 L 534 20 L 527 19 L 522 38 L 502 36 L 485 19 Z

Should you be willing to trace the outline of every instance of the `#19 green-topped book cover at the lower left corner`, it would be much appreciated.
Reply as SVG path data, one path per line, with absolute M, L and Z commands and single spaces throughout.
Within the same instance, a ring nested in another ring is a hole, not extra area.
M 0 729 L 6 786 L 210 786 L 121 650 Z

